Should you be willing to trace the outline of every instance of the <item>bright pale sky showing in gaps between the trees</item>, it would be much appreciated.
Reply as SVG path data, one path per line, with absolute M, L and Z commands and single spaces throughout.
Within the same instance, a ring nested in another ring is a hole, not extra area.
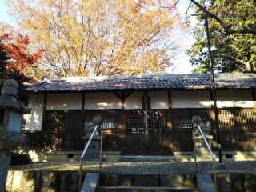
M 189 2 L 189 0 L 180 0 L 179 10 L 182 14 L 186 12 Z M 7 14 L 6 0 L 0 0 L 0 22 L 6 22 L 10 26 L 15 26 L 14 20 Z M 191 22 L 195 23 L 195 21 Z M 193 67 L 189 62 L 190 57 L 186 55 L 186 50 L 190 49 L 194 38 L 189 32 L 181 31 L 178 35 L 178 41 L 181 42 L 182 48 L 178 51 L 178 54 L 175 55 L 172 60 L 173 65 L 167 69 L 167 73 L 190 74 Z

